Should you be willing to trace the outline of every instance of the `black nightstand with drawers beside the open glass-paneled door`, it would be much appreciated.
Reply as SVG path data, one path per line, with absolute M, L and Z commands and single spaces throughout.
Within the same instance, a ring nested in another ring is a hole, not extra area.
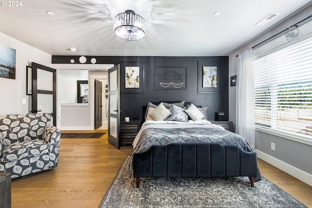
M 120 122 L 119 144 L 131 145 L 141 128 L 141 120 Z

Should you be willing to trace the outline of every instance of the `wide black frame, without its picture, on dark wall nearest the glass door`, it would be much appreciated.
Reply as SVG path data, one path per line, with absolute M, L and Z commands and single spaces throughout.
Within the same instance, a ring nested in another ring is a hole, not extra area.
M 126 88 L 126 67 L 139 67 L 139 87 Z M 121 62 L 120 63 L 120 94 L 145 94 L 144 91 L 144 63 Z

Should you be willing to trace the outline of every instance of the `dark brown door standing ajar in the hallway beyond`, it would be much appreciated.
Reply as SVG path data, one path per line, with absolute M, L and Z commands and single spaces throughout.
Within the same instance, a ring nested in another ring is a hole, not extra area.
M 94 107 L 94 124 L 95 129 L 102 125 L 102 82 L 95 80 L 95 107 Z

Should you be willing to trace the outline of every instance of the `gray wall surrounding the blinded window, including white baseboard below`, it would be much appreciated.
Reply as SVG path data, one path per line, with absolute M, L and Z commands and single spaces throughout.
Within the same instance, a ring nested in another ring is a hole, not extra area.
M 291 25 L 309 17 L 311 14 L 312 6 L 305 8 L 290 19 L 275 25 L 271 30 L 234 50 L 229 56 L 229 80 L 231 76 L 236 75 L 236 54 L 240 54 L 267 40 Z M 231 101 L 229 104 L 229 120 L 233 121 L 234 126 L 236 123 L 235 97 L 236 87 L 229 87 L 229 101 Z M 275 151 L 271 150 L 271 143 L 275 143 Z M 303 144 L 281 136 L 273 136 L 269 133 L 256 131 L 255 148 L 258 157 L 312 186 L 312 143 L 310 145 Z

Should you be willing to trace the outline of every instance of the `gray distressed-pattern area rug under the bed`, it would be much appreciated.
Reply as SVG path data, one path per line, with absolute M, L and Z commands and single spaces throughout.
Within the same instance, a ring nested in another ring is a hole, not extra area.
M 127 156 L 99 208 L 305 208 L 265 179 L 250 187 L 248 177 L 144 178 L 136 188 Z

